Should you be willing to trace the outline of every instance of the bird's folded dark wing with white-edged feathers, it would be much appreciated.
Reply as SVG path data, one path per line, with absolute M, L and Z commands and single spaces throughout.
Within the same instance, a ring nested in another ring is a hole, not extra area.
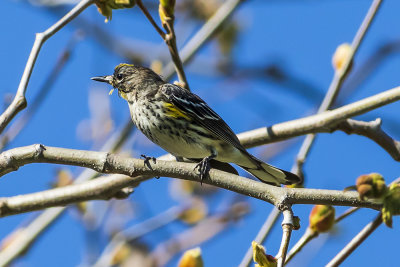
M 174 106 L 180 109 L 184 114 L 190 116 L 195 122 L 209 130 L 219 139 L 233 145 L 240 151 L 245 150 L 232 129 L 199 96 L 170 83 L 162 85 L 160 91 Z

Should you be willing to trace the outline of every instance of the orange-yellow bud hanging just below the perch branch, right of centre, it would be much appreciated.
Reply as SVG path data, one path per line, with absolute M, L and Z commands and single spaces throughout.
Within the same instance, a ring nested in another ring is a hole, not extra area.
M 310 213 L 311 230 L 322 233 L 335 224 L 335 208 L 330 205 L 315 205 Z

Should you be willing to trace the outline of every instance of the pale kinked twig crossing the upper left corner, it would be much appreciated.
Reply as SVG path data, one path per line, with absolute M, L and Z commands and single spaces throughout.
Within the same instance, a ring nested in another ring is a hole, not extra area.
M 64 17 L 62 17 L 53 26 L 48 28 L 44 32 L 36 34 L 36 39 L 33 44 L 31 53 L 29 54 L 28 61 L 25 66 L 24 73 L 22 74 L 21 81 L 18 86 L 17 93 L 11 104 L 7 109 L 0 115 L 0 133 L 6 128 L 6 126 L 11 122 L 11 120 L 17 115 L 18 112 L 26 107 L 25 92 L 28 86 L 29 79 L 31 77 L 33 67 L 35 65 L 36 59 L 39 55 L 40 48 L 42 45 L 61 28 L 67 25 L 71 20 L 78 16 L 83 10 L 94 3 L 94 0 L 82 0 L 79 2 L 70 12 L 68 12 Z

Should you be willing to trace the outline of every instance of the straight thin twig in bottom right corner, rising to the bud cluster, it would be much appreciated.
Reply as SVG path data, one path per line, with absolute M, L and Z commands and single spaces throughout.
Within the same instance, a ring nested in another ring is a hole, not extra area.
M 367 224 L 326 266 L 339 266 L 350 254 L 382 224 L 382 213 Z

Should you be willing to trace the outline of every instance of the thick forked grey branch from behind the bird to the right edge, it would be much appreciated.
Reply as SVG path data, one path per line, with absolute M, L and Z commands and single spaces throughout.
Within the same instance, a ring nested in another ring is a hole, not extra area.
M 238 137 L 244 146 L 254 147 L 309 133 L 341 130 L 349 134 L 354 133 L 372 139 L 388 151 L 395 160 L 399 161 L 400 144 L 382 131 L 379 127 L 379 120 L 369 123 L 354 120 L 346 121 L 348 118 L 364 114 L 398 100 L 400 100 L 400 87 L 364 98 L 334 110 L 244 132 L 239 134 Z

